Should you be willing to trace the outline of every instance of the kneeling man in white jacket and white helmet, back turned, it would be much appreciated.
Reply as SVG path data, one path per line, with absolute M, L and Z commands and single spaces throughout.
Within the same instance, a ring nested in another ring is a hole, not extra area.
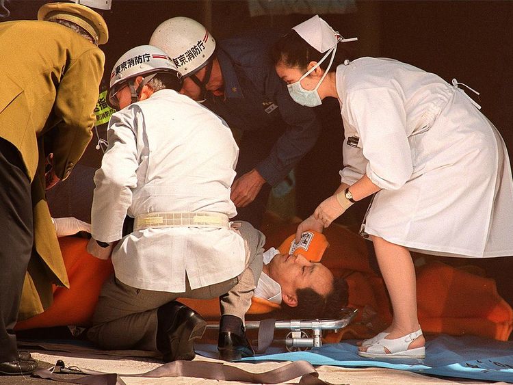
M 117 245 L 114 275 L 103 286 L 88 338 L 105 349 L 158 351 L 166 362 L 192 360 L 207 324 L 176 298 L 221 297 L 223 315 L 244 319 L 265 238 L 249 224 L 240 233 L 231 228 L 239 149 L 222 119 L 179 94 L 181 74 L 168 55 L 135 47 L 110 79 L 109 103 L 120 110 L 109 121 L 109 146 L 94 176 L 88 250 L 108 258 Z M 135 222 L 124 235 L 127 215 Z M 254 244 L 248 261 L 245 229 Z

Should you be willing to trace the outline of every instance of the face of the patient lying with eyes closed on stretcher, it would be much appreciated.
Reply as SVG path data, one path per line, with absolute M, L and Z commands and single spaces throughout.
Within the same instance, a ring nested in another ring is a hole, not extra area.
M 312 263 L 301 254 L 277 254 L 269 263 L 269 277 L 278 282 L 282 293 L 311 288 L 323 297 L 333 287 L 333 274 L 321 263 Z

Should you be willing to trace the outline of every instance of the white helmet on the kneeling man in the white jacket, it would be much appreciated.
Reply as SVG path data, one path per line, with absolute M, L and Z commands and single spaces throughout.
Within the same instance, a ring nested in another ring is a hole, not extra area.
M 172 60 L 164 51 L 150 45 L 140 45 L 124 53 L 114 64 L 110 74 L 109 94 L 107 100 L 116 107 L 117 100 L 114 95 L 128 83 L 132 92 L 132 101 L 137 101 L 137 94 L 157 73 L 170 72 L 176 74 L 176 79 L 181 83 L 182 75 Z M 129 80 L 142 76 L 144 80 L 135 90 L 133 82 Z

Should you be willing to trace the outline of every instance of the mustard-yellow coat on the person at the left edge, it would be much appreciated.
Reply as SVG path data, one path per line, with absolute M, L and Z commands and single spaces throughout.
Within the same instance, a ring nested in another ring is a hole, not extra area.
M 19 319 L 51 304 L 51 283 L 68 277 L 44 198 L 44 146 L 65 179 L 88 145 L 103 76 L 103 52 L 71 29 L 46 21 L 0 23 L 0 137 L 21 153 L 32 181 L 34 252 Z

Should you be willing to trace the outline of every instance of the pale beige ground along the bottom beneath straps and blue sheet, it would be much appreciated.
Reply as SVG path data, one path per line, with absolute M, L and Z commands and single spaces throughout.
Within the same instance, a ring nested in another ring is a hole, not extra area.
M 32 356 L 42 362 L 54 363 L 58 359 L 64 360 L 66 366 L 76 365 L 86 369 L 93 369 L 104 372 L 114 373 L 144 373 L 159 367 L 160 363 L 152 358 L 126 359 L 116 356 L 98 356 L 88 354 L 70 354 L 62 352 L 32 352 Z M 195 360 L 205 360 L 211 362 L 222 362 L 212 358 L 204 358 L 197 356 Z M 261 362 L 237 363 L 233 364 L 246 371 L 255 373 L 276 369 L 286 362 Z M 352 369 L 332 366 L 317 367 L 319 377 L 331 384 L 352 384 L 352 385 L 373 385 L 373 384 L 490 384 L 490 382 L 474 382 L 462 379 L 441 379 L 430 377 L 417 373 L 409 373 L 406 371 L 397 371 L 393 369 L 365 368 Z M 70 377 L 69 375 L 67 377 Z M 71 376 L 73 377 L 73 376 Z M 122 377 L 127 385 L 148 385 L 148 384 L 235 384 L 235 382 L 205 380 L 192 377 L 163 377 L 163 378 L 142 378 L 142 377 Z M 292 380 L 289 383 L 297 383 L 299 379 Z M 61 384 L 50 380 L 36 380 L 30 377 L 0 377 L 2 385 L 19 385 L 19 384 Z M 503 382 L 494 382 L 493 384 L 505 384 Z

